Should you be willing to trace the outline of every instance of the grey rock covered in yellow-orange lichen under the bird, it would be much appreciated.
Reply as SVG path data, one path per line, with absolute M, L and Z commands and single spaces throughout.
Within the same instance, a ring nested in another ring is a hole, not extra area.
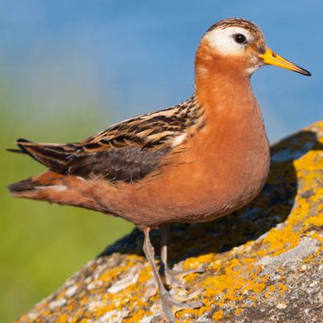
M 266 187 L 250 205 L 213 223 L 173 224 L 170 259 L 204 266 L 198 310 L 179 322 L 323 322 L 323 122 L 272 148 Z M 153 243 L 159 244 L 154 231 Z M 106 249 L 19 322 L 161 322 L 153 276 L 135 230 Z M 176 290 L 175 293 L 183 291 Z

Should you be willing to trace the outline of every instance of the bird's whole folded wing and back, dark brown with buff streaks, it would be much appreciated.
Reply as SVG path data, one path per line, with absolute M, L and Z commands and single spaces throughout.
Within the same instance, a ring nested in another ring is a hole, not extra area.
M 192 110 L 197 111 L 193 99 L 126 120 L 79 144 L 39 144 L 24 139 L 17 144 L 22 153 L 59 173 L 136 181 L 155 170 L 174 139 L 196 124 L 201 115 Z

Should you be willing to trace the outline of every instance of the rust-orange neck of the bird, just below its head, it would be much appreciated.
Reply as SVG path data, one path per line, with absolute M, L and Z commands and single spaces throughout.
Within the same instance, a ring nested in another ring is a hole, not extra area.
M 207 118 L 242 118 L 249 109 L 258 108 L 249 74 L 244 73 L 239 60 L 213 57 L 201 47 L 195 69 L 196 100 Z

